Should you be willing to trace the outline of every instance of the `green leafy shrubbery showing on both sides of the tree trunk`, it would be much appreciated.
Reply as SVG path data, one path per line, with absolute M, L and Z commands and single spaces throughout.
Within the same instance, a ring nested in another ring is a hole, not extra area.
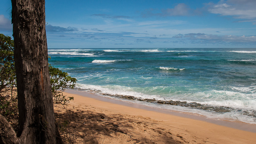
M 16 73 L 14 63 L 14 43 L 11 37 L 0 34 L 0 114 L 8 121 L 18 119 L 16 96 Z M 55 104 L 68 104 L 74 97 L 63 95 L 65 89 L 73 89 L 77 79 L 68 76 L 58 68 L 49 65 L 52 96 Z

